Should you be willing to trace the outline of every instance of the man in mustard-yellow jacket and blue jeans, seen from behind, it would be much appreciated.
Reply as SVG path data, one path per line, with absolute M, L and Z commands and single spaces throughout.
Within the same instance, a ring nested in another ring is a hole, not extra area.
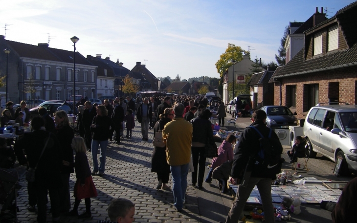
M 182 117 L 184 109 L 183 104 L 176 104 L 175 117 L 162 130 L 162 138 L 166 143 L 167 163 L 172 175 L 174 206 L 179 212 L 182 211 L 185 202 L 193 131 L 192 124 Z

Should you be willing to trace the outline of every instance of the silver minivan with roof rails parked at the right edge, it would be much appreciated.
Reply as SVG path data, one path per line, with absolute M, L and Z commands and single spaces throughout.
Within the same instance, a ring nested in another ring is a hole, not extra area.
M 320 103 L 306 117 L 307 155 L 341 159 L 340 175 L 357 174 L 357 105 Z

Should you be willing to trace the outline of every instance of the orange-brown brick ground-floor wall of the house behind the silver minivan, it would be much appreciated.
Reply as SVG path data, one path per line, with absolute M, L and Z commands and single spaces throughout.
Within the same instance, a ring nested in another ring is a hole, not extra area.
M 357 100 L 357 69 L 356 67 L 341 68 L 323 72 L 297 75 L 280 79 L 282 82 L 282 106 L 288 105 L 287 86 L 296 85 L 297 118 L 305 118 L 310 108 L 308 104 L 308 85 L 319 86 L 318 103 L 328 102 L 329 97 L 337 97 L 339 102 L 356 104 Z M 279 105 L 279 82 L 274 83 L 274 105 Z

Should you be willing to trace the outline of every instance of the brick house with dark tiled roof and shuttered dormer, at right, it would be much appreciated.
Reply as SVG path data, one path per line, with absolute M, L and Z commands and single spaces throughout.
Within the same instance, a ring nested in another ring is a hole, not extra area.
M 304 32 L 304 47 L 269 82 L 274 105 L 304 118 L 324 102 L 357 102 L 357 1 Z

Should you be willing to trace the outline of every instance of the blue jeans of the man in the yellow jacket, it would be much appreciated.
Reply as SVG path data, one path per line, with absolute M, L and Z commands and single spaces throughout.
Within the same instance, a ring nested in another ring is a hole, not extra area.
M 170 166 L 172 175 L 172 192 L 174 206 L 180 211 L 183 208 L 187 189 L 188 163 L 180 166 Z

